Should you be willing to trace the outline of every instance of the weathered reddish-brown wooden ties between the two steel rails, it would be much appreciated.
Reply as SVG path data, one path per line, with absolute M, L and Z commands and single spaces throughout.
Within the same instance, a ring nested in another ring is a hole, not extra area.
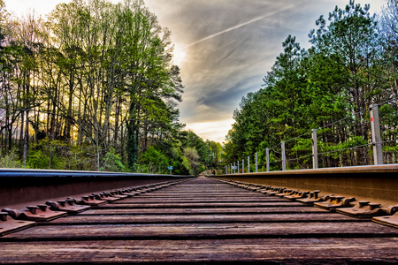
M 261 191 L 179 180 L 4 235 L 0 263 L 398 262 L 398 229 Z

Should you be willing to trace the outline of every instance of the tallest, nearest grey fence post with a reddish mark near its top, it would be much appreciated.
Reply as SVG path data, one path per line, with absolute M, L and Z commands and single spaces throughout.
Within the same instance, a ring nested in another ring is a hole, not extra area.
M 381 133 L 379 122 L 379 106 L 371 104 L 371 144 L 373 146 L 374 164 L 383 164 L 383 149 L 381 148 Z

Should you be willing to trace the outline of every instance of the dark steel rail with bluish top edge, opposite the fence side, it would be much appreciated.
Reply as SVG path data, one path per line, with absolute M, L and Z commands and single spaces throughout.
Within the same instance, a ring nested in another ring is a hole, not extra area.
M 0 169 L 0 208 L 192 176 L 78 170 Z

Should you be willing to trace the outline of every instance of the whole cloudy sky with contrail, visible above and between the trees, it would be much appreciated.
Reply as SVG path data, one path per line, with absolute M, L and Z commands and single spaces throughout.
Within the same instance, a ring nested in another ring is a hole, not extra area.
M 112 0 L 116 3 L 119 0 Z M 5 0 L 22 16 L 45 15 L 69 0 Z M 289 34 L 310 48 L 308 34 L 349 0 L 145 0 L 161 27 L 172 31 L 174 63 L 185 86 L 180 122 L 204 140 L 225 141 L 241 98 L 262 87 Z M 387 0 L 356 0 L 379 13 Z

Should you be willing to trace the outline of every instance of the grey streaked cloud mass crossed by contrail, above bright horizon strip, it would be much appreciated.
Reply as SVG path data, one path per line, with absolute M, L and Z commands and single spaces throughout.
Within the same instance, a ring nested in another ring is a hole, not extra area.
M 308 2 L 171 0 L 172 8 L 157 16 L 186 51 L 180 65 L 186 86 L 181 120 L 195 123 L 232 117 L 241 97 L 261 87 L 282 50 L 281 42 L 287 37 L 281 30 L 287 27 L 283 21 Z M 147 4 L 149 9 L 162 5 L 156 0 Z

